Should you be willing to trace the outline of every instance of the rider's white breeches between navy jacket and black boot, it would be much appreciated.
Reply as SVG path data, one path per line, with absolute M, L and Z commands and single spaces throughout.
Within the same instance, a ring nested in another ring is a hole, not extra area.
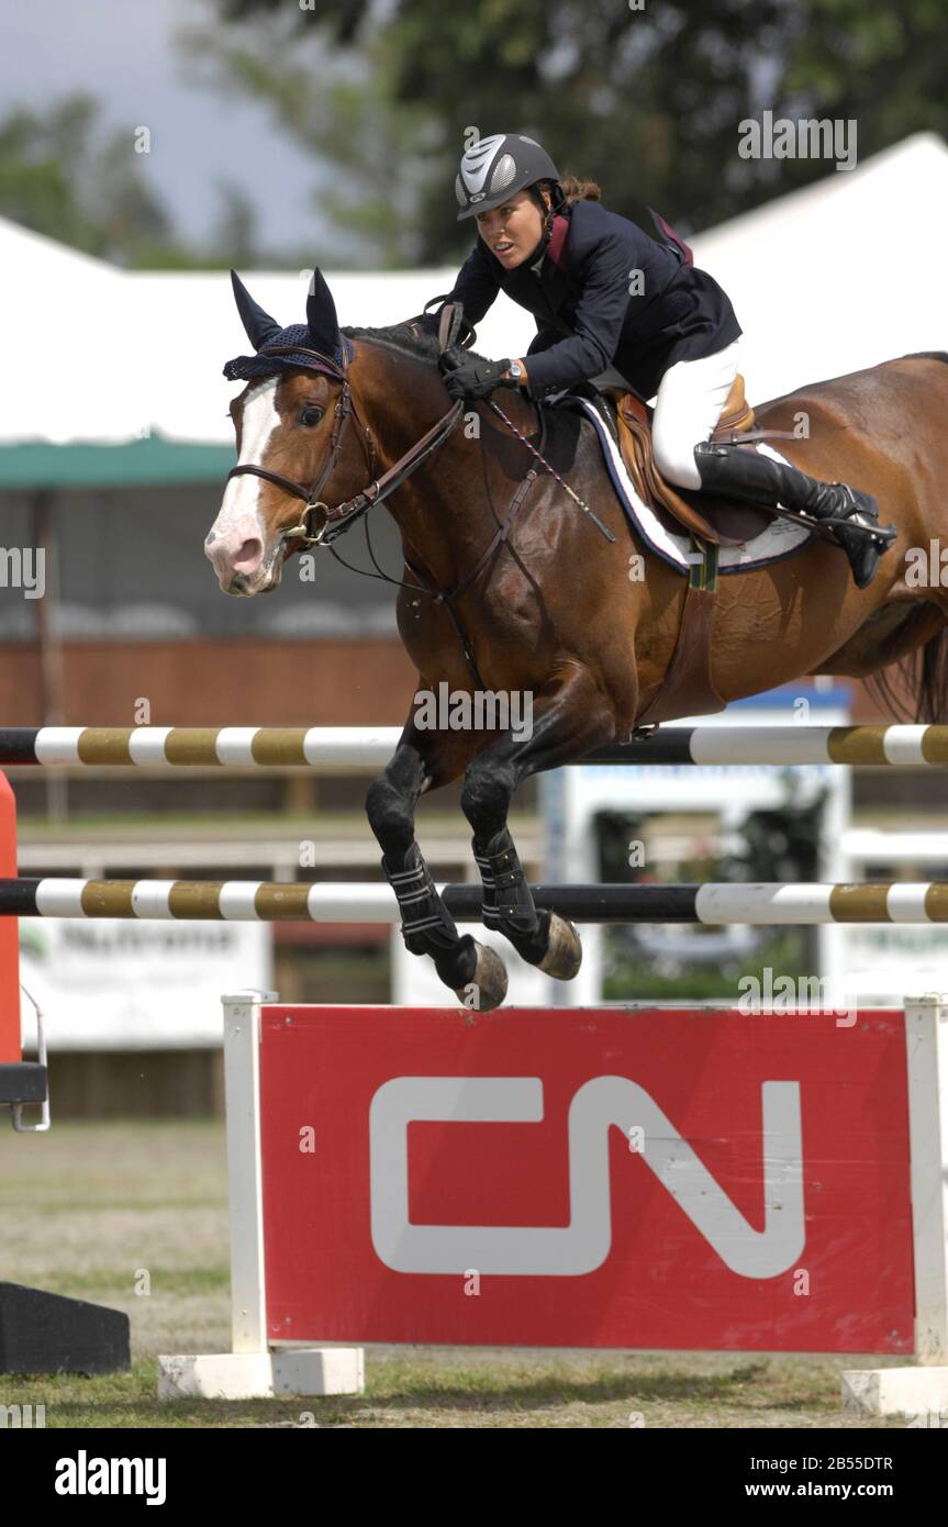
M 666 371 L 655 397 L 652 454 L 661 475 L 679 487 L 701 487 L 695 446 L 710 440 L 737 374 L 736 339 L 713 356 L 678 360 Z

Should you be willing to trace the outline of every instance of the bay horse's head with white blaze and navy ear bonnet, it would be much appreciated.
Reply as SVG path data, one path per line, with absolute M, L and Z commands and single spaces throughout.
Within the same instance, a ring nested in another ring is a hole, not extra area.
M 282 562 L 321 530 L 324 493 L 348 499 L 374 476 L 366 432 L 348 428 L 350 341 L 319 270 L 307 322 L 281 328 L 231 272 L 237 307 L 253 345 L 224 366 L 247 386 L 231 403 L 238 464 L 205 542 L 226 594 L 276 588 Z M 331 489 L 330 489 L 331 479 Z

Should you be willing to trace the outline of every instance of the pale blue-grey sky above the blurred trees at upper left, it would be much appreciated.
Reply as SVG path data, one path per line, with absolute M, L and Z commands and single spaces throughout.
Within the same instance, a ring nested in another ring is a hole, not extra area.
M 209 0 L 0 0 L 0 116 L 90 92 L 102 128 L 151 128 L 142 168 L 186 238 L 209 235 L 217 188 L 232 180 L 260 211 L 267 247 L 298 244 L 314 232 L 316 162 L 273 127 L 267 107 L 183 78 L 174 32 L 214 15 Z

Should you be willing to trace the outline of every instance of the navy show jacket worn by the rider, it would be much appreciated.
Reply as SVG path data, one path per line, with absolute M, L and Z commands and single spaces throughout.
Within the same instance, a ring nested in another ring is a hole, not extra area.
M 531 397 L 589 380 L 615 366 L 643 399 L 676 360 L 713 356 L 740 334 L 727 293 L 684 263 L 672 240 L 656 243 L 600 202 L 574 202 L 559 264 L 543 253 L 505 270 L 478 238 L 449 301 L 479 324 L 498 292 L 536 318 L 527 354 Z M 632 273 L 641 272 L 634 293 Z M 641 290 L 638 290 L 641 289 Z

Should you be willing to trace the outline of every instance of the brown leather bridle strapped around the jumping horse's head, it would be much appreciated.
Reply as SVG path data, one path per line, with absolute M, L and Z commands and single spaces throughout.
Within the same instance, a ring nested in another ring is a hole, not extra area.
M 447 411 L 447 414 L 443 414 L 443 417 L 437 420 L 432 428 L 405 452 L 405 455 L 398 457 L 394 466 L 383 472 L 382 476 L 371 476 L 377 469 L 379 454 L 376 450 L 372 432 L 359 414 L 353 399 L 345 348 L 342 363 L 330 356 L 324 356 L 319 350 L 308 350 L 304 345 L 267 345 L 260 351 L 260 354 L 310 356 L 313 362 L 316 362 L 313 366 L 314 371 L 321 371 L 331 377 L 331 380 L 342 383 L 342 392 L 336 400 L 336 417 L 333 420 L 330 450 L 322 472 L 311 487 L 307 487 L 304 483 L 296 483 L 293 478 L 284 476 L 282 472 L 273 472 L 270 467 L 258 466 L 253 461 L 241 463 L 240 466 L 231 467 L 227 472 L 227 481 L 234 476 L 250 473 L 253 476 L 264 478 L 267 483 L 273 483 L 276 487 L 282 489 L 284 493 L 292 493 L 293 498 L 301 498 L 304 501 L 299 522 L 281 531 L 281 539 L 284 542 L 302 541 L 307 547 L 328 547 L 337 536 L 342 536 L 347 530 L 350 530 L 356 521 L 372 507 L 372 504 L 380 504 L 389 493 L 394 493 L 395 489 L 400 487 L 400 484 L 405 483 L 423 461 L 427 461 L 427 458 L 444 444 L 464 409 L 464 403 L 458 400 Z M 319 495 L 339 464 L 350 418 L 354 418 L 359 426 L 359 443 L 362 446 L 371 483 L 353 498 L 347 498 L 342 504 L 325 504 Z M 322 510 L 325 519 L 319 530 L 313 531 L 310 516 L 314 515 L 316 510 Z

